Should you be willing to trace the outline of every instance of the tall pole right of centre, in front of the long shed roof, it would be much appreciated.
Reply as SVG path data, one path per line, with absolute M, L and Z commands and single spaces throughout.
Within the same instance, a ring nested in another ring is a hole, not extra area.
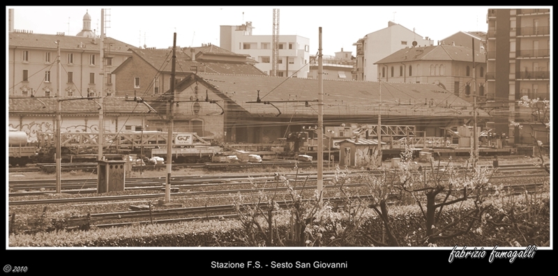
M 322 191 L 324 189 L 324 79 L 322 61 L 322 27 L 319 27 L 318 39 L 318 176 L 317 189 L 319 204 L 322 204 Z

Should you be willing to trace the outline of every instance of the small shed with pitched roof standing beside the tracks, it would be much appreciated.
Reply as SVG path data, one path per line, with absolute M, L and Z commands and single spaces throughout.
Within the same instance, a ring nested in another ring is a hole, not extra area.
M 376 167 L 378 160 L 377 139 L 345 139 L 338 142 L 340 167 Z M 386 145 L 382 142 L 382 148 Z

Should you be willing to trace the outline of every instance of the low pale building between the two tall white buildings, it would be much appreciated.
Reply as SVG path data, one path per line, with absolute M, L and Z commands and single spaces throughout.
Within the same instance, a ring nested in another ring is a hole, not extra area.
M 352 75 L 356 60 L 352 56 L 352 52 L 343 51 L 335 52 L 335 56 L 324 55 L 322 57 L 322 73 L 323 79 L 342 79 L 354 80 L 356 76 Z M 309 79 L 318 78 L 318 59 L 317 56 L 310 56 Z

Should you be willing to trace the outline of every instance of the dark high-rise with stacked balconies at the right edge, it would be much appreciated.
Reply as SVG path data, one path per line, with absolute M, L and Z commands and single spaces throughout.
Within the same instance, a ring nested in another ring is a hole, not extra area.
M 487 100 L 497 107 L 495 128 L 510 144 L 547 144 L 550 132 L 532 110 L 519 107 L 522 96 L 550 100 L 550 8 L 488 9 Z M 533 128 L 518 128 L 510 121 Z

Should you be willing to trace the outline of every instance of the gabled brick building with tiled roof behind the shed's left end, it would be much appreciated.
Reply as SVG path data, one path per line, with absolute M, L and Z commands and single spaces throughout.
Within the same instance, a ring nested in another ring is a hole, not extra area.
M 193 72 L 265 75 L 248 56 L 213 45 L 179 48 L 175 52 L 176 83 Z M 130 59 L 112 72 L 116 76 L 116 95 L 149 98 L 169 90 L 172 49 L 130 49 L 130 54 Z

